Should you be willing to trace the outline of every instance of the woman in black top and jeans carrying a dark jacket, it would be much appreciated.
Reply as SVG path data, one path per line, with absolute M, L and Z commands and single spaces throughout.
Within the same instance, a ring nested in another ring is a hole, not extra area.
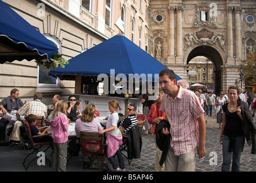
M 238 172 L 245 138 L 248 145 L 253 144 L 251 153 L 256 154 L 256 124 L 247 103 L 239 98 L 238 87 L 229 87 L 228 100 L 229 102 L 222 106 L 223 122 L 219 140 L 223 153 L 222 171 L 230 171 L 232 160 L 231 171 Z

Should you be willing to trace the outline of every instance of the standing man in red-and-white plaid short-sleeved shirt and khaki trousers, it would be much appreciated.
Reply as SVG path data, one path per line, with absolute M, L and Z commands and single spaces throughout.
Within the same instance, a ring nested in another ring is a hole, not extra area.
M 173 70 L 161 70 L 159 81 L 164 91 L 160 110 L 170 123 L 162 133 L 171 135 L 165 170 L 195 171 L 196 150 L 199 158 L 205 155 L 204 110 L 195 93 L 176 85 Z

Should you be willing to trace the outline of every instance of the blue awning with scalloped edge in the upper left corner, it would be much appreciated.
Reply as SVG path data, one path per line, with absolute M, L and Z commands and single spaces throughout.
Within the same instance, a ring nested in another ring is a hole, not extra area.
M 43 57 L 59 50 L 32 25 L 0 0 L 0 63 Z

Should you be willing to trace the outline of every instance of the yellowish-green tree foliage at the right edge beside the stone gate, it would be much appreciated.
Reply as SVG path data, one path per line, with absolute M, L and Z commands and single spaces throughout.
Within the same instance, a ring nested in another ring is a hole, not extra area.
M 246 59 L 239 66 L 243 67 L 243 79 L 246 85 L 256 83 L 256 51 L 246 55 Z

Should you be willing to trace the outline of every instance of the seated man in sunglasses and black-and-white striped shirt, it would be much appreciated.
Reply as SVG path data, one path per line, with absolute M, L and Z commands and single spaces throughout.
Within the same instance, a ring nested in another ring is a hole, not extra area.
M 127 137 L 127 134 L 131 128 L 135 124 L 137 124 L 137 118 L 135 117 L 137 107 L 133 104 L 130 104 L 127 107 L 127 117 L 120 122 L 120 125 L 118 126 L 119 130 L 122 132 L 123 137 Z M 124 138 L 123 138 L 124 140 Z

